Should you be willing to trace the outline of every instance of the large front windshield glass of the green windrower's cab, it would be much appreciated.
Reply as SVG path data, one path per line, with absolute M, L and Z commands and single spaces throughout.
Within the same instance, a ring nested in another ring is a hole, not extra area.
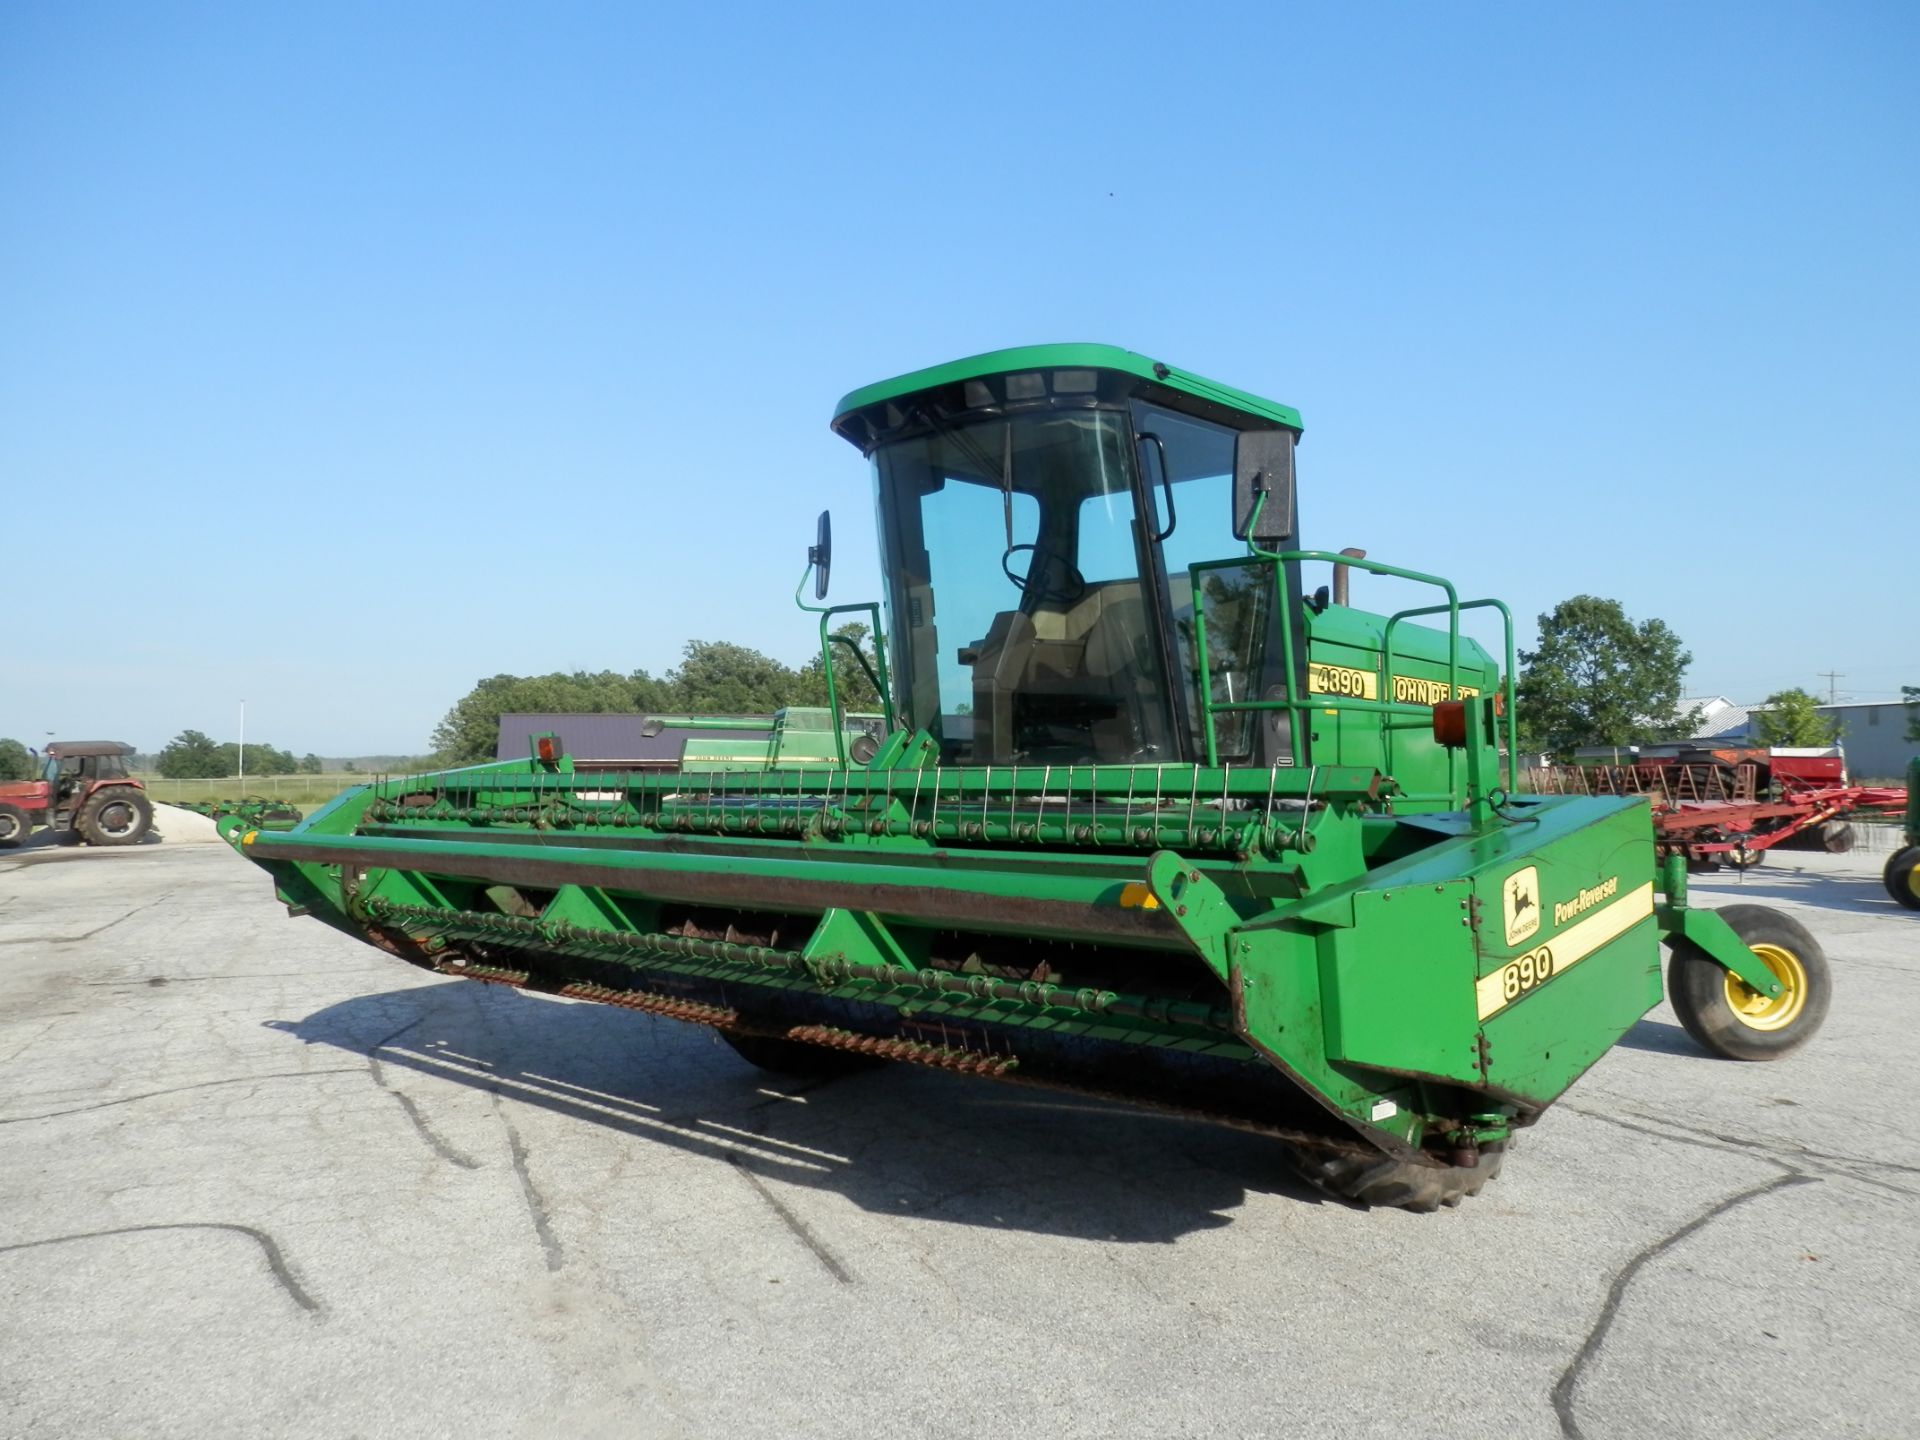
M 947 764 L 1177 758 L 1131 445 L 1087 409 L 876 451 L 897 664 Z

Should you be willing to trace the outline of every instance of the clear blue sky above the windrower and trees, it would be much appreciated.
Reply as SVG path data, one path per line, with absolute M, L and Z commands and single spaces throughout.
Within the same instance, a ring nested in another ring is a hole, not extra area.
M 1308 543 L 1897 695 L 1916 73 L 1901 4 L 13 0 L 0 735 L 799 660 L 833 401 L 1046 340 L 1298 405 Z

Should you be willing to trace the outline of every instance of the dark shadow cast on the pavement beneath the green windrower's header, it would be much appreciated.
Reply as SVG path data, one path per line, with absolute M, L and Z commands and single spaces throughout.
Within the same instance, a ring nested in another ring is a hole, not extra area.
M 1169 1244 L 1248 1192 L 1325 1200 L 1269 1137 L 900 1064 L 770 1075 L 703 1027 L 472 981 L 269 1025 L 895 1217 Z

